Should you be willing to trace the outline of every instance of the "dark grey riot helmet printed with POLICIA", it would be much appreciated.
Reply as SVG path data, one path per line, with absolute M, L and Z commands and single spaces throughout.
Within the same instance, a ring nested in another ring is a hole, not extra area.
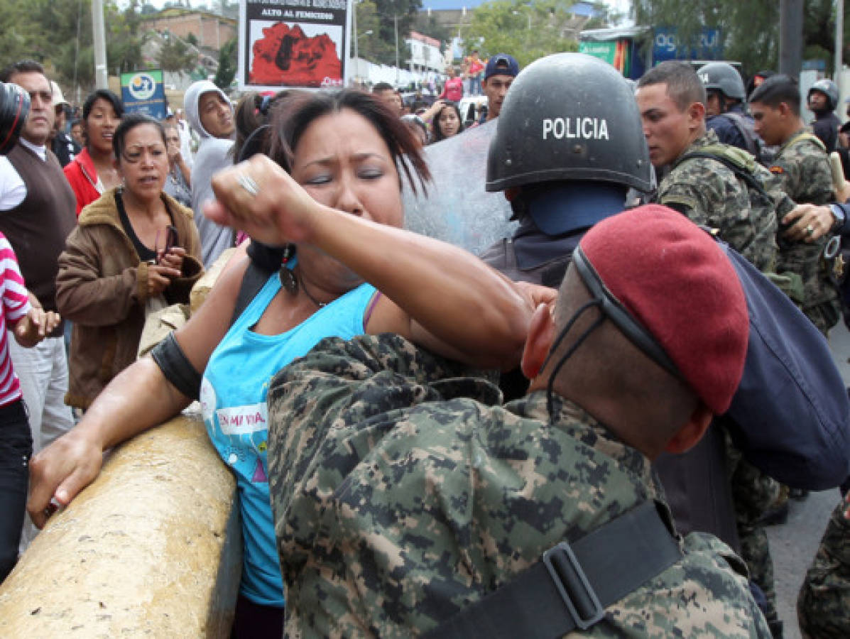
M 632 85 L 590 55 L 548 55 L 521 71 L 490 141 L 488 191 L 554 181 L 651 189 Z

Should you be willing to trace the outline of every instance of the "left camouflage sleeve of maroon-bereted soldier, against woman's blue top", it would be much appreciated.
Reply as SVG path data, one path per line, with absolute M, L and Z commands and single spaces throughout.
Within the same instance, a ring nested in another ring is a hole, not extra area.
M 312 474 L 321 444 L 332 430 L 364 427 L 388 411 L 449 395 L 501 403 L 498 388 L 475 372 L 389 333 L 348 342 L 329 337 L 284 367 L 272 378 L 268 394 L 269 488 L 275 519 L 280 522 L 298 483 Z M 382 421 L 385 427 L 388 423 L 391 420 Z M 373 436 L 380 438 L 381 433 Z

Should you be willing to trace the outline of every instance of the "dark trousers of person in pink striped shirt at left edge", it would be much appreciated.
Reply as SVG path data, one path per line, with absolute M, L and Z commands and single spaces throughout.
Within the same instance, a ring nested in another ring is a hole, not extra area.
M 20 399 L 0 407 L 0 583 L 18 562 L 32 437 Z

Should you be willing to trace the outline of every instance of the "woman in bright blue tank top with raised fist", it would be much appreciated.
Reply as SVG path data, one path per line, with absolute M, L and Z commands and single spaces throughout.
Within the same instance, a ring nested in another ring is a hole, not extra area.
M 413 173 L 420 187 L 430 176 L 404 123 L 371 95 L 288 99 L 270 132 L 268 156 L 213 179 L 218 202 L 207 205 L 207 217 L 271 246 L 294 243 L 297 259 L 289 249 L 271 252 L 264 285 L 232 325 L 248 258 L 231 260 L 159 351 L 167 356 L 141 359 L 116 378 L 42 453 L 44 470 L 32 478 L 31 506 L 41 495 L 44 506 L 51 496 L 66 504 L 97 475 L 102 450 L 167 420 L 197 394 L 240 495 L 244 563 L 233 636 L 282 632 L 265 454 L 270 377 L 323 337 L 387 331 L 470 365 L 511 368 L 535 303 L 550 298 L 461 249 L 400 229 L 399 168 L 413 189 Z

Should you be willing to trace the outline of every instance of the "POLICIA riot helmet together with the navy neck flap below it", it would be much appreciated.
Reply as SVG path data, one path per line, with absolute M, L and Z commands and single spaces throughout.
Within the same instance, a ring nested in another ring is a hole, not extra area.
M 488 191 L 547 235 L 592 226 L 652 189 L 649 150 L 629 82 L 586 54 L 553 54 L 519 73 L 487 156 Z

